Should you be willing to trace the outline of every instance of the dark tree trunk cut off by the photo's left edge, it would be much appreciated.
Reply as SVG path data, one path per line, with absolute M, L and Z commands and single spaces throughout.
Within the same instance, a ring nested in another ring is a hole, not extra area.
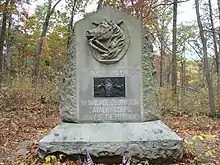
M 9 4 L 9 0 L 6 0 L 3 8 L 2 15 L 2 27 L 0 33 L 0 88 L 3 79 L 3 70 L 4 70 L 4 41 L 5 41 L 5 33 L 6 33 L 6 23 L 7 23 L 7 7 Z

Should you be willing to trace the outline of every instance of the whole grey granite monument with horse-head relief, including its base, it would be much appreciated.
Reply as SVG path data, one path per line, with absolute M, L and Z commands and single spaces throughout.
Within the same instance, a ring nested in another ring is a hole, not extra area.
M 62 123 L 39 142 L 94 157 L 177 160 L 182 139 L 159 120 L 152 43 L 140 21 L 104 7 L 75 24 L 60 91 Z

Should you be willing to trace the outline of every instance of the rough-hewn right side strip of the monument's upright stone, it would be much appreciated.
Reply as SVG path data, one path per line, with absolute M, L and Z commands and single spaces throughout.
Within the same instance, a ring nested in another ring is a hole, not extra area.
M 156 75 L 153 64 L 153 47 L 150 43 L 146 28 L 142 26 L 142 100 L 143 100 L 143 121 L 157 120 L 160 118 L 156 88 Z

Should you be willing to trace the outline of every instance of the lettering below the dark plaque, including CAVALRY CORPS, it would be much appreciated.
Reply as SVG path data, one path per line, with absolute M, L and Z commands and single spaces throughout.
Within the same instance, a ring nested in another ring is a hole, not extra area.
M 80 115 L 84 121 L 139 121 L 140 103 L 136 99 L 92 99 L 81 100 L 87 112 Z

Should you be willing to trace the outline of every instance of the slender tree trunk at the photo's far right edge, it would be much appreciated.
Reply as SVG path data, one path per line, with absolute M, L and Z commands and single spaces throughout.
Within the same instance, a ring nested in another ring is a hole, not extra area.
M 219 63 L 217 39 L 216 39 L 216 32 L 215 32 L 215 28 L 214 28 L 211 0 L 209 0 L 209 14 L 210 14 L 210 21 L 211 21 L 211 26 L 212 26 L 212 38 L 213 38 L 215 58 L 216 58 L 215 61 L 216 61 L 216 70 L 217 70 L 217 94 L 218 94 L 218 96 L 220 96 L 220 70 L 219 70 L 220 63 Z

